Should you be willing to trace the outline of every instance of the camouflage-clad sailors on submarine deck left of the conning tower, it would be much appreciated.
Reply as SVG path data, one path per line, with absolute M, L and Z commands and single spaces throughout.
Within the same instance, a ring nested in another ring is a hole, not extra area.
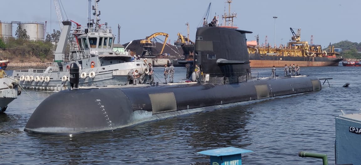
M 148 83 L 147 84 L 153 84 L 154 82 L 154 70 L 153 70 L 153 66 L 151 63 L 148 63 L 149 66 L 149 79 L 148 79 Z M 130 80 L 133 81 L 133 85 L 138 84 L 143 84 L 143 77 L 144 77 L 144 72 L 141 70 L 134 70 L 131 69 L 128 72 L 128 78 L 127 78 L 127 82 L 125 85 L 128 84 L 128 82 Z M 174 81 L 174 66 L 173 63 L 170 64 L 170 66 L 168 67 L 166 64 L 164 65 L 164 79 L 165 79 L 165 84 L 168 83 L 167 79 L 168 79 L 168 75 L 169 75 L 169 82 L 173 83 Z

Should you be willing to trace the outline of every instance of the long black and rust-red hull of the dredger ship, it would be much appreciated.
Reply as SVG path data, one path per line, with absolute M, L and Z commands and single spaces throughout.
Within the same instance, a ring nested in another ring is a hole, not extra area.
M 343 58 L 339 57 L 292 57 L 271 56 L 264 54 L 249 54 L 251 67 L 283 67 L 285 64 L 295 64 L 301 67 L 308 66 L 339 66 Z

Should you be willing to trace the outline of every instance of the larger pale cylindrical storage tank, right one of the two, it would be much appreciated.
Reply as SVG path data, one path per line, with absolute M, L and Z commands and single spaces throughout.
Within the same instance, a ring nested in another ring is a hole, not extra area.
M 30 40 L 44 40 L 44 22 L 20 22 L 19 29 L 25 29 Z

